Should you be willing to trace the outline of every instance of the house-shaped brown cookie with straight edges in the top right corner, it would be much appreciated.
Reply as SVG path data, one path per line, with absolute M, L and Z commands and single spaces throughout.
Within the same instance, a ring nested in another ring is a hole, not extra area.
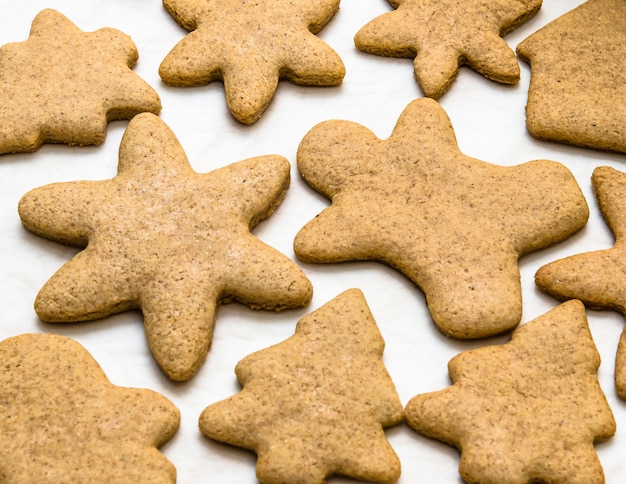
M 589 0 L 517 46 L 530 63 L 529 133 L 626 153 L 626 2 Z

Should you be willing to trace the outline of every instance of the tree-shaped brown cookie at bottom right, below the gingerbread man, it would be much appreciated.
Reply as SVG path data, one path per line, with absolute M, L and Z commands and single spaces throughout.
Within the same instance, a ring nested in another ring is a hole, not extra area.
M 569 301 L 505 345 L 453 358 L 452 386 L 411 399 L 406 419 L 460 450 L 467 482 L 602 483 L 593 444 L 614 435 L 615 420 L 599 366 L 584 306 Z

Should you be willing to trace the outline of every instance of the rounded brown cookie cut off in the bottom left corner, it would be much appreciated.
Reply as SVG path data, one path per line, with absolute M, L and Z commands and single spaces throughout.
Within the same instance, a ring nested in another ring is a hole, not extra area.
M 0 481 L 176 482 L 157 450 L 178 409 L 118 387 L 80 344 L 28 334 L 0 343 Z

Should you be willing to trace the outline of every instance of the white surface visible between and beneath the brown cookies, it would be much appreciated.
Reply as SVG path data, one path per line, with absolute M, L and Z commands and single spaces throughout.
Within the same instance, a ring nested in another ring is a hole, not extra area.
M 580 3 L 544 0 L 539 14 L 505 39 L 515 48 Z M 365 54 L 354 46 L 356 32 L 391 9 L 384 0 L 342 0 L 340 11 L 320 34 L 345 63 L 347 73 L 341 87 L 306 88 L 283 82 L 269 109 L 252 126 L 239 124 L 228 113 L 220 83 L 174 88 L 161 82 L 159 64 L 186 32 L 159 0 L 0 0 L 0 44 L 25 40 L 32 19 L 48 7 L 59 10 L 81 30 L 114 27 L 132 37 L 139 50 L 135 72 L 158 91 L 163 104 L 160 116 L 178 136 L 196 171 L 270 153 L 289 159 L 292 184 L 287 197 L 254 233 L 294 260 L 295 234 L 328 205 L 297 173 L 295 154 L 302 137 L 321 121 L 346 119 L 386 138 L 405 106 L 422 96 L 413 78 L 412 60 Z M 626 156 L 531 138 L 524 124 L 530 70 L 524 63 L 521 69 L 521 82 L 505 86 L 464 67 L 440 102 L 466 155 L 501 165 L 534 159 L 559 161 L 573 172 L 589 203 L 590 220 L 581 232 L 520 261 L 524 323 L 557 305 L 534 285 L 534 274 L 541 265 L 611 246 L 613 239 L 598 212 L 590 176 L 599 165 L 625 170 Z M 447 362 L 454 355 L 508 340 L 507 336 L 470 342 L 446 338 L 431 321 L 422 293 L 404 276 L 377 262 L 301 264 L 315 290 L 305 309 L 276 314 L 237 303 L 222 306 L 206 362 L 185 383 L 168 380 L 155 364 L 138 312 L 67 326 L 42 323 L 33 311 L 35 295 L 76 250 L 26 232 L 17 215 L 18 200 L 28 190 L 51 182 L 113 177 L 126 125 L 126 121 L 111 123 L 106 141 L 98 147 L 44 145 L 33 154 L 0 156 L 0 338 L 28 332 L 69 336 L 90 351 L 113 383 L 150 388 L 171 399 L 181 411 L 182 422 L 162 452 L 176 466 L 178 482 L 256 482 L 254 454 L 204 438 L 197 430 L 198 417 L 207 405 L 239 390 L 233 370 L 241 358 L 291 336 L 298 319 L 348 288 L 358 287 L 365 294 L 386 341 L 384 361 L 403 404 L 418 393 L 449 385 Z M 622 483 L 626 481 L 626 403 L 616 396 L 613 365 L 624 321 L 608 311 L 588 311 L 588 316 L 602 356 L 600 383 L 617 420 L 615 437 L 596 449 L 607 482 Z M 404 424 L 389 429 L 387 435 L 402 462 L 400 483 L 461 482 L 459 454 L 452 447 L 428 440 Z M 352 481 L 332 478 L 329 482 Z

